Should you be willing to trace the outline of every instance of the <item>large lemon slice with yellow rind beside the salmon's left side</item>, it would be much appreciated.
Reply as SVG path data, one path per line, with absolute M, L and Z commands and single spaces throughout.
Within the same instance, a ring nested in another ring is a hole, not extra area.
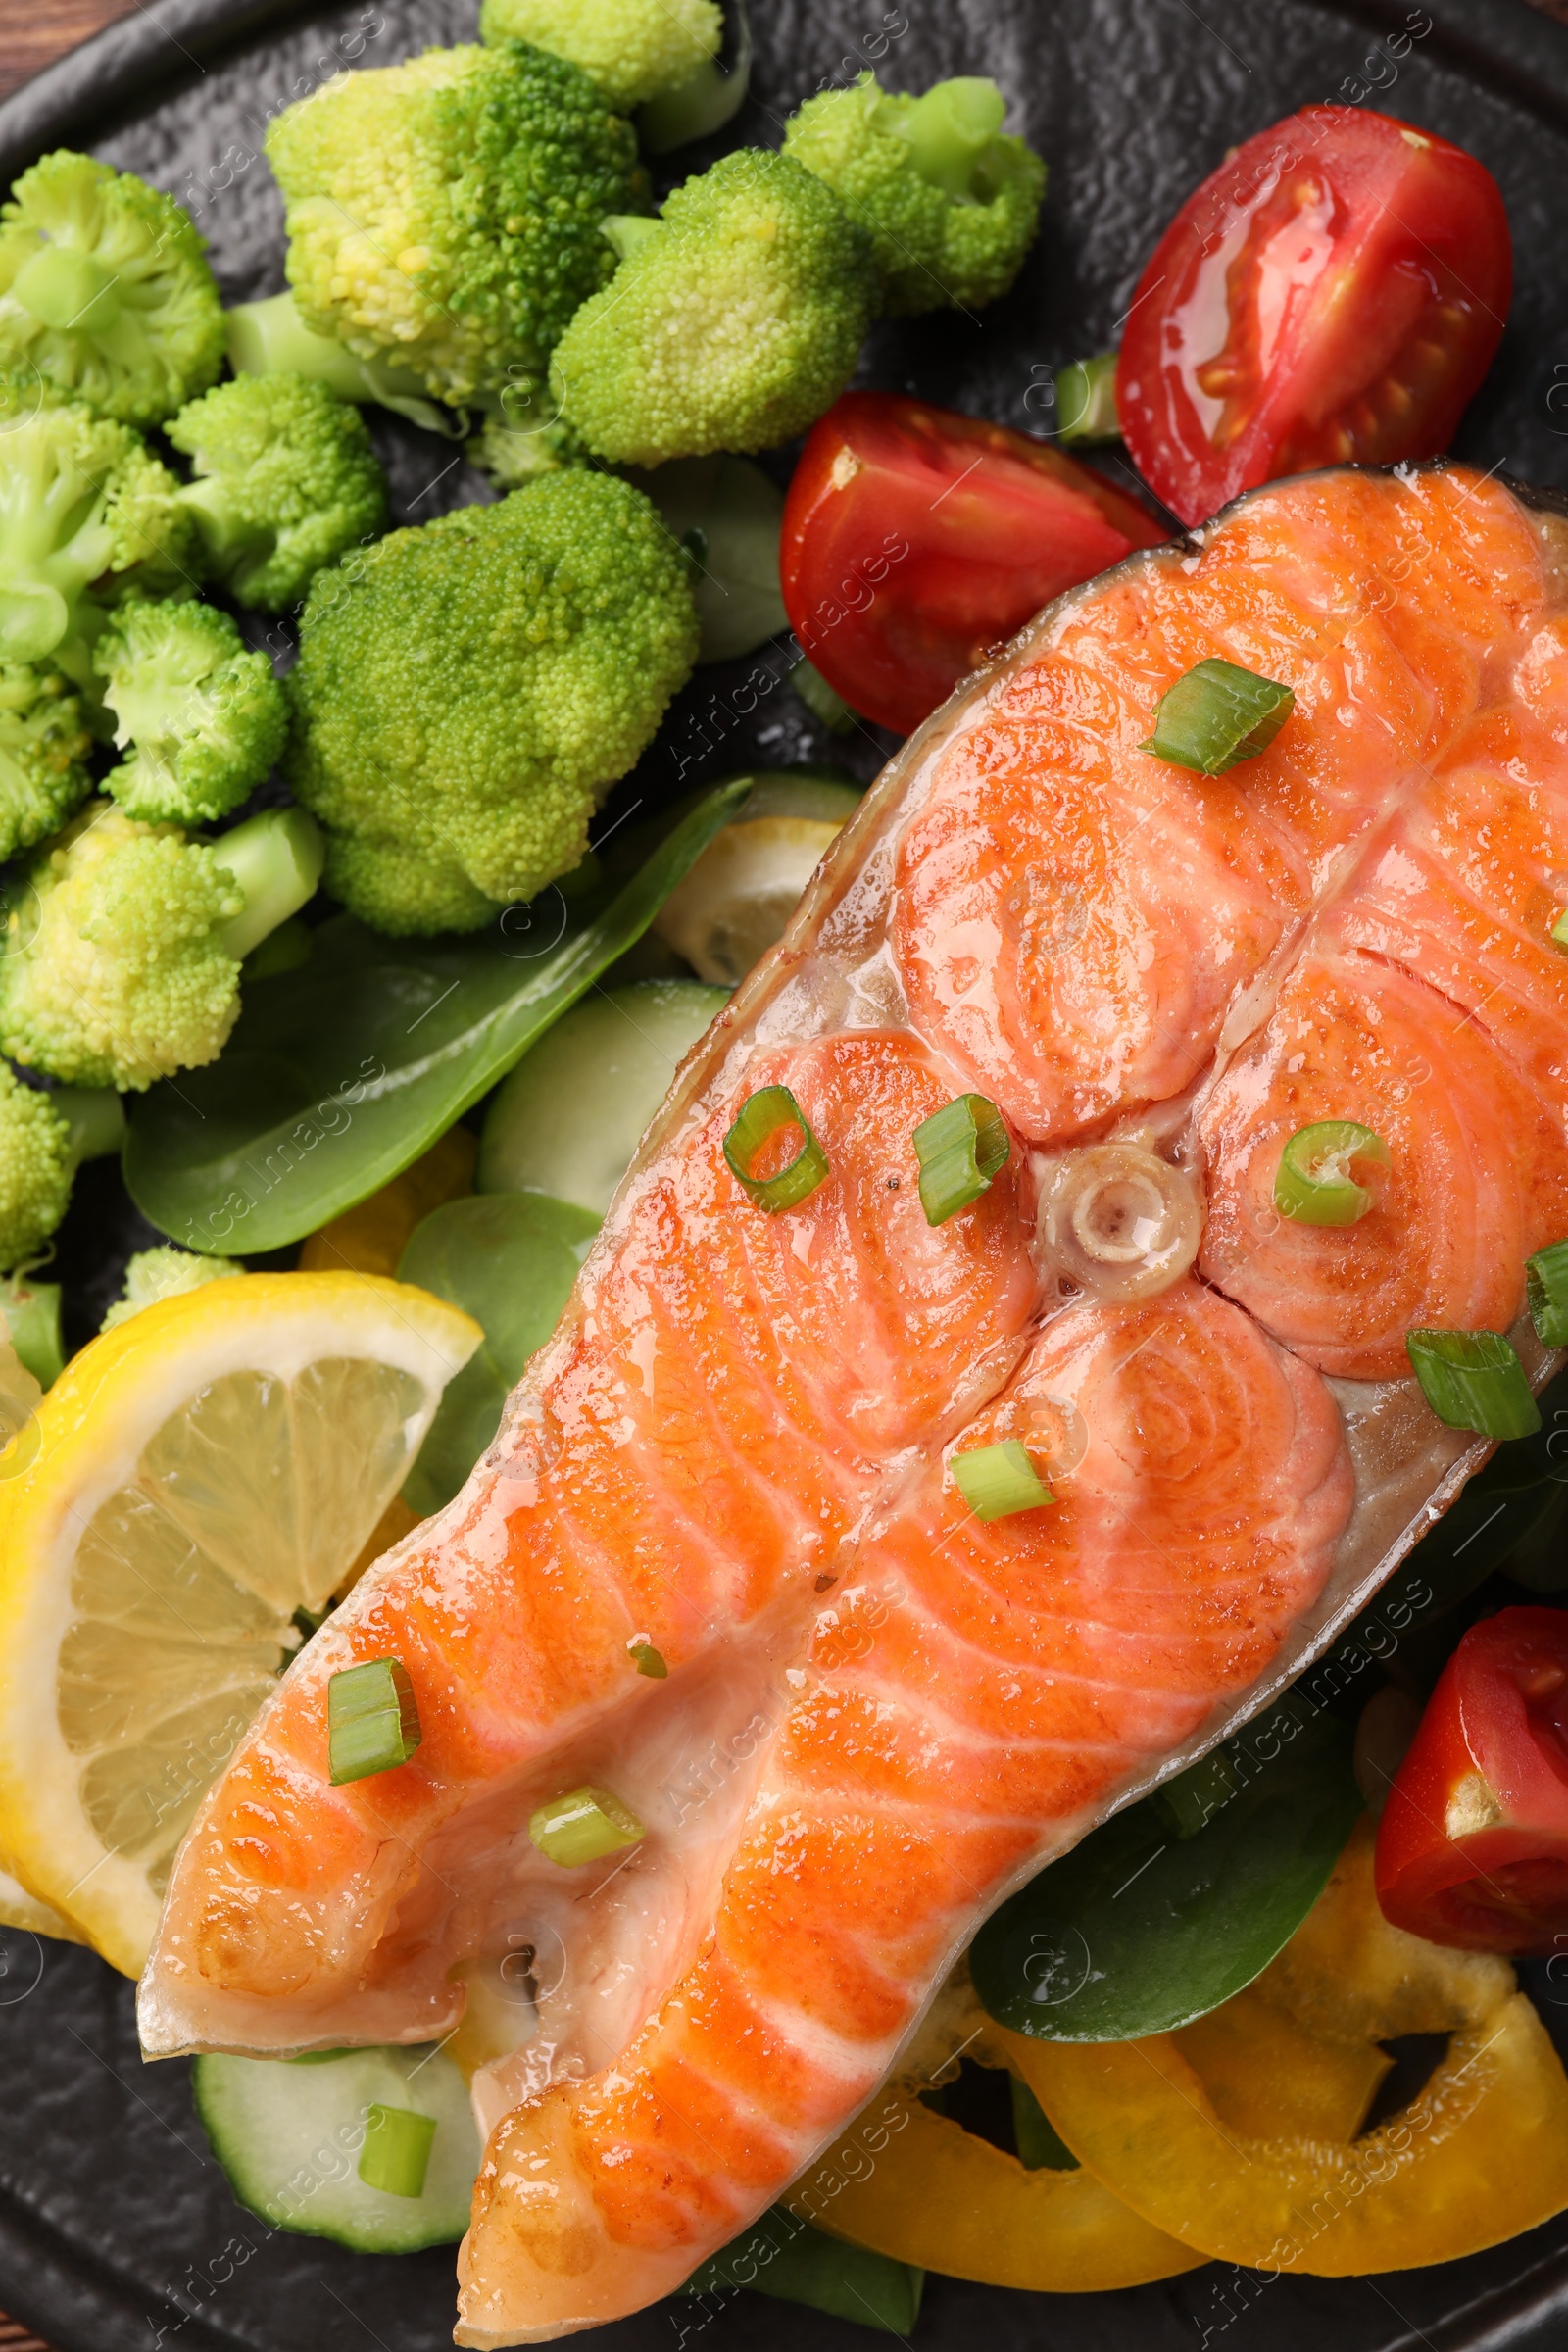
M 371 1275 L 212 1282 L 92 1341 L 0 1456 L 0 1856 L 127 1976 L 294 1611 L 480 1338 Z

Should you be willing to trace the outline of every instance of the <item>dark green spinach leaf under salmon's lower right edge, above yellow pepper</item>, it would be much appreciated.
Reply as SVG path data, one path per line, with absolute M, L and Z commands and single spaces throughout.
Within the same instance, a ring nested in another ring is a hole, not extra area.
M 1204 1759 L 1093 1830 L 980 1929 L 971 1973 L 1001 2025 L 1041 2042 L 1171 2032 L 1284 1950 L 1361 1811 L 1352 1738 L 1286 1700 L 1222 1755 L 1222 1771 Z

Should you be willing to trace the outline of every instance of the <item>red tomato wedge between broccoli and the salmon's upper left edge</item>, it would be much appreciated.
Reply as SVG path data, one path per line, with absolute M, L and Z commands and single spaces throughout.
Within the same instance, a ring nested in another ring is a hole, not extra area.
M 846 393 L 785 501 L 790 626 L 846 703 L 912 734 L 1041 604 L 1168 532 L 1070 456 L 898 393 Z

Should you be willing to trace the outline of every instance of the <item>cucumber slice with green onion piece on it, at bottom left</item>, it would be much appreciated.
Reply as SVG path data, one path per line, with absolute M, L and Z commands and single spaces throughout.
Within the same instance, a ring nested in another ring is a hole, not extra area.
M 331 2237 L 355 2253 L 449 2246 L 468 2227 L 480 2131 L 468 2084 L 435 2044 L 315 2051 L 310 2058 L 197 2058 L 195 2112 L 242 2206 L 275 2230 Z M 435 2122 L 425 2185 L 395 2197 L 360 2178 L 371 2107 Z

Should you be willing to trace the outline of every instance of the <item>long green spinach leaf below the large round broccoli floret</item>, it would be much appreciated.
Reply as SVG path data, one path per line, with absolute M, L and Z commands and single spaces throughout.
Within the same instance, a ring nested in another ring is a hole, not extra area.
M 205 1070 L 139 1096 L 136 1207 L 186 1249 L 256 1256 L 303 1240 L 418 1160 L 649 922 L 745 797 L 722 786 L 590 920 L 555 889 L 470 938 L 378 938 L 350 915 L 247 990 Z

